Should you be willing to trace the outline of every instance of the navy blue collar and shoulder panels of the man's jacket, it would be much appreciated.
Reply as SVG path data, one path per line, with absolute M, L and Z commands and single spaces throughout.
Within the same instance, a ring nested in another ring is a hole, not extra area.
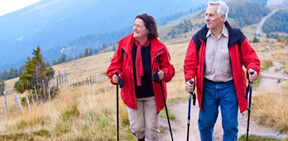
M 224 22 L 224 25 L 225 27 L 227 27 L 228 33 L 229 33 L 228 47 L 231 47 L 231 45 L 236 43 L 237 40 L 240 38 L 240 35 L 241 35 L 240 30 L 234 29 L 233 27 L 231 27 L 231 25 L 227 21 Z M 207 24 L 205 24 L 205 26 L 196 33 L 196 37 L 199 38 L 200 40 L 203 40 L 203 42 L 206 44 L 207 42 L 206 35 L 208 31 L 209 29 L 207 28 Z

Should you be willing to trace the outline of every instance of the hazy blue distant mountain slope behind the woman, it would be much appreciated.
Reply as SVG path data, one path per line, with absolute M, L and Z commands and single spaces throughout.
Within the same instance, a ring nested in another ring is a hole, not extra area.
M 19 67 L 38 45 L 46 61 L 52 61 L 60 56 L 63 47 L 72 46 L 85 36 L 93 35 L 91 38 L 99 42 L 115 42 L 118 33 L 125 34 L 123 30 L 132 27 L 134 17 L 140 13 L 160 19 L 206 3 L 207 0 L 42 0 L 0 17 L 0 71 Z

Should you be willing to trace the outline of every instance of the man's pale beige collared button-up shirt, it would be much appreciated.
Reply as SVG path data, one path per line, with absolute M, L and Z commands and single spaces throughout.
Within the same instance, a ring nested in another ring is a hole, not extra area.
M 219 38 L 215 38 L 210 29 L 207 32 L 204 72 L 204 77 L 207 80 L 214 82 L 233 80 L 228 52 L 228 34 L 228 29 L 225 25 Z

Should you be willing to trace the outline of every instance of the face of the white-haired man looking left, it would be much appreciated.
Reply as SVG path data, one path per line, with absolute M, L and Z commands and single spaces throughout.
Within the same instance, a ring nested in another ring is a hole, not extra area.
M 217 5 L 212 5 L 212 6 L 208 6 L 206 9 L 206 13 L 205 13 L 205 20 L 207 23 L 207 28 L 208 29 L 218 29 L 218 28 L 222 28 L 222 25 L 224 24 L 224 18 L 225 15 L 222 15 L 221 17 L 219 17 L 217 10 L 218 10 Z

